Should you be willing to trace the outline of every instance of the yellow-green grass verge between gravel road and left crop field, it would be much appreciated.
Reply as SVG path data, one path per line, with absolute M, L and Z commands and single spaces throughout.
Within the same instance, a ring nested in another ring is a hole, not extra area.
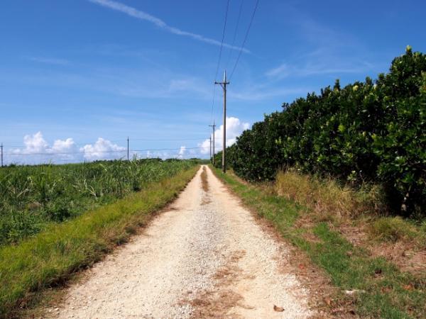
M 0 249 L 0 318 L 31 301 L 34 291 L 66 281 L 79 269 L 99 261 L 145 225 L 164 207 L 195 172 L 192 167 L 174 177 L 154 182 L 148 188 L 102 208 L 84 213 Z

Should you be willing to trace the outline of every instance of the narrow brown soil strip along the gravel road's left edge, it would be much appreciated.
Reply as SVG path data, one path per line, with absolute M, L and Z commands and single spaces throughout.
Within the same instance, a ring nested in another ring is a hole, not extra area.
M 67 293 L 67 289 L 77 283 L 80 283 L 87 279 L 89 276 L 89 269 L 94 267 L 98 262 L 102 262 L 108 255 L 115 254 L 119 252 L 119 250 L 124 247 L 127 243 L 133 241 L 138 235 L 143 235 L 143 232 L 148 228 L 155 218 L 158 218 L 162 213 L 166 211 L 173 210 L 173 203 L 178 198 L 178 196 L 185 191 L 187 185 L 195 179 L 197 172 L 199 171 L 201 165 L 197 165 L 197 169 L 195 167 L 191 167 L 188 170 L 194 169 L 193 176 L 185 183 L 185 186 L 180 189 L 180 191 L 176 192 L 176 195 L 173 198 L 170 198 L 170 201 L 165 203 L 163 208 L 159 208 L 156 211 L 148 213 L 146 215 L 146 220 L 143 223 L 138 223 L 136 225 L 134 233 L 131 233 L 129 237 L 121 242 L 117 242 L 116 244 L 111 246 L 111 249 L 107 252 L 104 252 L 96 262 L 92 264 L 85 265 L 84 267 L 78 269 L 76 272 L 69 274 L 66 278 L 59 279 L 49 288 L 34 291 L 21 301 L 21 305 L 18 306 L 12 313 L 6 316 L 7 319 L 15 319 L 15 318 L 23 318 L 23 319 L 34 319 L 34 318 L 43 318 L 43 313 L 46 308 L 55 308 L 56 305 L 59 305 L 65 301 L 65 296 Z M 28 300 L 28 303 L 27 303 Z M 20 303 L 18 303 L 19 305 Z

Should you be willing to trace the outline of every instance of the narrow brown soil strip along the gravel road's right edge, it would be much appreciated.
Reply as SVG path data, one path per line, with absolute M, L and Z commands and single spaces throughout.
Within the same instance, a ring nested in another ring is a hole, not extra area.
M 211 167 L 210 167 L 211 168 Z M 217 175 L 215 169 L 211 169 L 214 176 L 219 180 L 222 179 Z M 237 179 L 246 186 L 253 186 L 246 181 L 241 180 L 233 173 L 232 177 Z M 317 267 L 312 263 L 310 257 L 308 257 L 305 252 L 295 247 L 291 242 L 285 240 L 284 237 L 280 235 L 278 230 L 275 228 L 275 225 L 266 218 L 262 218 L 258 215 L 256 209 L 251 206 L 248 206 L 244 201 L 239 198 L 239 196 L 228 186 L 228 184 L 222 182 L 224 187 L 231 196 L 234 196 L 241 206 L 251 212 L 253 218 L 256 220 L 256 223 L 261 227 L 261 229 L 267 233 L 278 243 L 284 243 L 288 248 L 290 257 L 285 262 L 278 260 L 280 271 L 283 274 L 294 274 L 296 278 L 300 281 L 300 284 L 307 289 L 309 306 L 314 311 L 314 315 L 310 318 L 320 319 L 320 318 L 359 318 L 354 315 L 354 306 L 350 299 L 342 300 L 342 293 L 339 289 L 332 284 L 329 279 L 329 276 L 324 272 L 323 269 Z M 337 302 L 337 298 L 339 302 Z

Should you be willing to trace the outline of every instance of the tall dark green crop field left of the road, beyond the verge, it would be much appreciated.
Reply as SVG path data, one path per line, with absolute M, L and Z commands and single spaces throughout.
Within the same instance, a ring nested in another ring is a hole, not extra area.
M 138 159 L 4 167 L 0 169 L 0 246 L 16 244 L 51 223 L 112 203 L 194 164 Z

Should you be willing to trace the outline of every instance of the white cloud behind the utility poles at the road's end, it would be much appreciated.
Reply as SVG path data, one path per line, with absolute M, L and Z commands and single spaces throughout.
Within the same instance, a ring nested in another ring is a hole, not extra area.
M 229 117 L 226 118 L 226 147 L 231 146 L 236 142 L 236 138 L 243 133 L 244 130 L 248 130 L 250 128 L 249 123 L 241 122 L 239 118 Z M 222 135 L 224 132 L 224 125 L 220 125 L 217 130 L 214 131 L 214 146 L 215 152 L 222 150 Z M 207 155 L 210 150 L 210 140 L 204 140 L 203 142 L 198 144 L 201 154 Z

